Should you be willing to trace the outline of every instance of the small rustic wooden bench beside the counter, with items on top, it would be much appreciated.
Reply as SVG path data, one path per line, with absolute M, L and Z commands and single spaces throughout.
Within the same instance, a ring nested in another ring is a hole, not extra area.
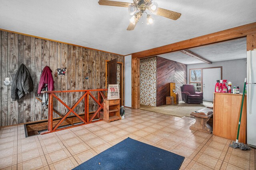
M 196 119 L 196 122 L 190 126 L 191 130 L 212 133 L 212 121 L 209 121 L 213 116 L 212 107 L 200 109 L 196 112 L 192 112 L 190 115 L 194 116 Z

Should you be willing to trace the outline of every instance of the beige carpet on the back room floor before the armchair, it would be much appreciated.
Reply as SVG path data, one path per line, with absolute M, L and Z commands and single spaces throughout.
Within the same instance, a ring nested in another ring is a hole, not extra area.
M 142 104 L 140 105 L 140 109 L 142 110 L 163 113 L 166 115 L 174 115 L 178 117 L 190 117 L 191 112 L 203 109 L 205 107 L 213 107 L 212 102 L 204 102 L 203 104 L 187 104 L 185 102 L 179 102 L 178 105 L 163 105 L 158 107 L 146 106 Z

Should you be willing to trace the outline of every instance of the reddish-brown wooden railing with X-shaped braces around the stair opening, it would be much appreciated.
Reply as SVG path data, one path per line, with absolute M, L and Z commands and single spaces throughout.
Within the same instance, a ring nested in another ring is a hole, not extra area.
M 44 91 L 41 93 L 48 93 L 49 98 L 48 98 L 48 131 L 45 131 L 43 134 L 46 133 L 51 133 L 55 131 L 60 131 L 63 129 L 68 129 L 71 127 L 76 127 L 80 125 L 85 125 L 88 123 L 96 122 L 93 121 L 93 119 L 98 115 L 100 117 L 100 110 L 103 109 L 103 102 L 102 98 L 105 99 L 104 91 L 107 91 L 107 89 L 94 89 L 94 90 L 63 90 L 63 91 Z M 76 101 L 76 103 L 72 106 L 69 107 L 66 103 L 64 103 L 60 98 L 56 96 L 56 93 L 71 93 L 71 92 L 84 92 L 84 94 Z M 92 95 L 91 92 L 97 92 L 97 99 Z M 92 114 L 92 116 L 89 119 L 89 96 L 98 104 L 97 110 Z M 53 112 L 56 113 L 56 111 L 53 109 L 53 98 L 56 98 L 62 105 L 64 105 L 68 111 L 65 115 L 61 116 L 62 118 L 58 123 L 53 126 Z M 78 106 L 78 104 L 84 99 L 84 119 L 74 111 L 74 108 Z M 70 121 L 67 120 L 68 116 L 70 113 L 73 113 L 78 119 L 81 120 L 81 123 L 74 125 Z M 65 127 L 60 127 L 63 121 L 70 122 L 70 126 L 65 126 Z M 99 119 L 97 121 L 102 121 L 102 119 Z M 59 128 L 58 128 L 59 127 Z

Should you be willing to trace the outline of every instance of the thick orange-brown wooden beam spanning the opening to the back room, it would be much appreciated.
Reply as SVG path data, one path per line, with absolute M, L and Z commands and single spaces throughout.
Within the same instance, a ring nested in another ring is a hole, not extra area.
M 216 33 L 202 35 L 200 37 L 187 39 L 177 43 L 164 45 L 162 47 L 156 47 L 153 49 L 132 53 L 132 58 L 143 58 L 143 57 L 150 57 L 154 55 L 161 55 L 161 54 L 170 53 L 174 51 L 180 51 L 184 49 L 190 49 L 193 47 L 200 47 L 203 45 L 209 45 L 213 43 L 219 43 L 222 41 L 228 41 L 231 39 L 246 37 L 246 35 L 255 34 L 255 33 L 256 33 L 256 22 L 242 25 L 239 27 L 226 29 L 223 31 L 218 31 Z

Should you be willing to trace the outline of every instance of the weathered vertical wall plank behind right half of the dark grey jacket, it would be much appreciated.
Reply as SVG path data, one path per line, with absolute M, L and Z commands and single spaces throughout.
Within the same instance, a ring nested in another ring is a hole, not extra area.
M 31 37 L 24 35 L 23 40 L 23 49 L 24 49 L 24 58 L 23 63 L 28 68 L 28 71 L 31 73 L 30 69 L 30 55 L 31 55 Z M 23 97 L 23 107 L 24 107 L 24 122 L 31 121 L 31 101 L 30 95 L 24 95 Z

